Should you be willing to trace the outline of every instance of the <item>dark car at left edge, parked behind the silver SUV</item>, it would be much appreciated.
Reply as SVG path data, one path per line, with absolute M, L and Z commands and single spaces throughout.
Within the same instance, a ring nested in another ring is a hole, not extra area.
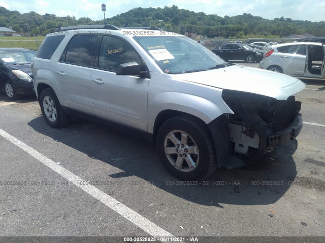
M 24 48 L 0 48 L 0 89 L 9 99 L 35 94 L 30 69 L 35 56 L 35 51 Z

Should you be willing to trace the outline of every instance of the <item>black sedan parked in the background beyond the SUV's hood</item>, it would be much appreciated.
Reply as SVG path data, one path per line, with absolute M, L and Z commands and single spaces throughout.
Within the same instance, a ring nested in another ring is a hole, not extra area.
M 243 60 L 248 63 L 260 62 L 263 58 L 264 50 L 252 49 L 246 44 L 231 43 L 222 45 L 211 50 L 225 61 Z

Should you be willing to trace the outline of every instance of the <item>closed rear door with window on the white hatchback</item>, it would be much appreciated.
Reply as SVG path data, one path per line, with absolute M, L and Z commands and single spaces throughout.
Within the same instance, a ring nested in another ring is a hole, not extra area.
M 278 47 L 279 62 L 283 67 L 284 73 L 293 76 L 303 76 L 306 67 L 306 49 L 307 46 L 290 45 Z

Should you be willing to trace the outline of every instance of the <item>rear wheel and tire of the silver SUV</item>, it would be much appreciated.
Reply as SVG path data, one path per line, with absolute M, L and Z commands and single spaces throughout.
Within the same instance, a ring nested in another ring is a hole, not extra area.
M 61 128 L 68 124 L 68 116 L 62 110 L 52 89 L 48 88 L 42 91 L 40 105 L 46 123 L 52 128 Z

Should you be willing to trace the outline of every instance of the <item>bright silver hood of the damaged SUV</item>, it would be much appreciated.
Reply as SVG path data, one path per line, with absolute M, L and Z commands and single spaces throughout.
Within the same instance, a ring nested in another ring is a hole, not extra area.
M 234 65 L 202 72 L 177 74 L 187 82 L 198 83 L 225 90 L 236 90 L 265 95 L 277 100 L 302 91 L 306 85 L 295 77 L 285 74 Z

